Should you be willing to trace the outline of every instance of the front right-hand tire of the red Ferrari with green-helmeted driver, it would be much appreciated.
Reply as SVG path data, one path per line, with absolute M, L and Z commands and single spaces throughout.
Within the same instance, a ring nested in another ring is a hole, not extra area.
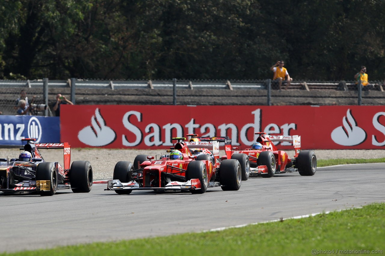
M 209 185 L 206 165 L 202 161 L 191 161 L 186 170 L 186 181 L 199 179 L 201 182 L 200 190 L 190 190 L 192 194 L 203 194 Z

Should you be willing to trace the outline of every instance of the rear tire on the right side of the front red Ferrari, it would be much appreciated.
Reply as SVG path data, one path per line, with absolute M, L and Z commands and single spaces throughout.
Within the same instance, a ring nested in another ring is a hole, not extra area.
M 224 191 L 239 190 L 242 182 L 242 168 L 238 160 L 222 160 L 219 167 L 219 181 Z

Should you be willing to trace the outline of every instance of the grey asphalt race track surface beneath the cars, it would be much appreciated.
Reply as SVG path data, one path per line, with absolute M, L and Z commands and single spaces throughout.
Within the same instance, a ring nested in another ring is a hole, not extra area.
M 199 232 L 363 206 L 385 199 L 385 163 L 318 168 L 249 178 L 239 191 L 204 194 L 133 191 L 94 185 L 90 193 L 0 193 L 0 252 Z

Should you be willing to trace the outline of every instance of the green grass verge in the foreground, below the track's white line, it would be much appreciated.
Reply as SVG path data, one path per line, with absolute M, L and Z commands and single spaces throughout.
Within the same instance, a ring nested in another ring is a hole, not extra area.
M 66 246 L 22 255 L 311 255 L 313 249 L 384 250 L 384 213 L 385 203 L 374 203 L 224 231 Z

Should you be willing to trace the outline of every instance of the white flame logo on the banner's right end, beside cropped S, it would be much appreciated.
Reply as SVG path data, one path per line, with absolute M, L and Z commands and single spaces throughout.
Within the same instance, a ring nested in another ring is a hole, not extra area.
M 356 146 L 366 140 L 366 132 L 357 126 L 357 122 L 348 109 L 342 118 L 343 126 L 338 126 L 331 132 L 331 139 L 342 146 Z

